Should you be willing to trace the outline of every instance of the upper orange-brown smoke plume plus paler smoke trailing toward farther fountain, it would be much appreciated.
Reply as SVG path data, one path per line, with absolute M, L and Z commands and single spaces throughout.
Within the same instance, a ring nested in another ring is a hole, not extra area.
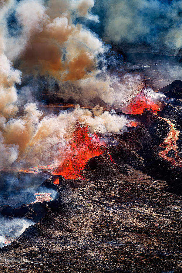
M 98 99 L 108 104 L 125 99 L 122 97 L 141 80 L 131 75 L 120 79 L 106 70 L 103 53 L 108 47 L 78 20 L 93 18 L 93 5 L 93 0 L 50 0 L 47 5 L 38 0 L 9 2 L 7 10 L 8 6 L 9 12 L 13 10 L 16 28 L 9 27 L 6 16 L 2 21 L 7 26 L 6 54 L 23 75 L 46 75 L 48 81 L 53 77 L 58 81 L 59 97 L 94 106 Z

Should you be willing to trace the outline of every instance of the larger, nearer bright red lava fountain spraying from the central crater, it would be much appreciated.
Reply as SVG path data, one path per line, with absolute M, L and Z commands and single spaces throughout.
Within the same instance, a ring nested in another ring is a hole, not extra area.
M 80 178 L 87 160 L 103 153 L 104 150 L 100 146 L 104 144 L 96 133 L 91 135 L 89 126 L 77 122 L 66 160 L 52 174 L 62 175 L 66 179 Z

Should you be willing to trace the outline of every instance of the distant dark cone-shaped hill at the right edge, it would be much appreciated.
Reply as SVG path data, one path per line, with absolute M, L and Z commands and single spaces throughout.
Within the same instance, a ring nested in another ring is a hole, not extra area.
M 167 97 L 182 99 L 182 81 L 174 80 L 174 82 L 160 88 L 158 91 L 164 93 Z

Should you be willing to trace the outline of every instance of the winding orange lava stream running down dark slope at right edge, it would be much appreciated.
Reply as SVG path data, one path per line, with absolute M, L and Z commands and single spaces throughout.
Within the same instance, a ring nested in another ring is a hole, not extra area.
M 157 115 L 158 116 L 158 115 Z M 158 116 L 160 119 L 165 120 L 170 125 L 170 132 L 168 136 L 164 139 L 163 143 L 160 144 L 160 147 L 164 147 L 165 150 L 159 152 L 159 156 L 163 157 L 165 160 L 168 160 L 174 166 L 181 166 L 182 160 L 177 155 L 177 140 L 179 139 L 179 131 L 174 128 L 174 124 L 166 119 Z M 174 157 L 168 157 L 167 153 L 170 150 L 174 150 Z

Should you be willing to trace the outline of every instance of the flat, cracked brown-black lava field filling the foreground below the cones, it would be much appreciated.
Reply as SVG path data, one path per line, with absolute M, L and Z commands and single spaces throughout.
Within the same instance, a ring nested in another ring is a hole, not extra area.
M 64 210 L 48 202 L 54 211 L 2 248 L 1 272 L 180 272 L 182 198 L 165 185 L 139 170 L 79 180 L 61 191 Z

